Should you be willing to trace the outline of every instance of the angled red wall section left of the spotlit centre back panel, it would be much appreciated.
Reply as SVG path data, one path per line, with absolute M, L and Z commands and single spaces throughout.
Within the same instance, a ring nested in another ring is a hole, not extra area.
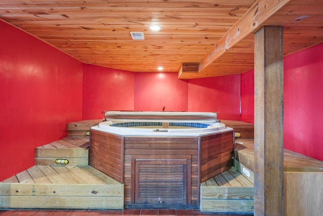
M 103 110 L 134 109 L 134 73 L 84 64 L 83 119 L 103 118 Z

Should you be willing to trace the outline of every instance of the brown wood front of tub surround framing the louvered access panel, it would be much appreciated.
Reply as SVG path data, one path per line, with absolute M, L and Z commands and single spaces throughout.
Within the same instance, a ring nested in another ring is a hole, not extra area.
M 138 145 L 138 149 L 136 146 Z M 167 148 L 170 150 L 167 150 Z M 145 149 L 143 151 L 143 149 Z M 134 196 L 131 184 L 132 168 L 131 160 L 185 160 L 190 161 L 190 178 L 189 184 L 190 194 L 187 203 L 192 206 L 197 206 L 199 200 L 199 185 L 198 185 L 198 139 L 195 137 L 126 137 L 125 138 L 125 204 L 131 204 L 131 197 Z M 133 193 L 133 194 L 132 194 Z M 167 202 L 165 203 L 167 204 Z M 150 205 L 151 207 L 151 205 Z

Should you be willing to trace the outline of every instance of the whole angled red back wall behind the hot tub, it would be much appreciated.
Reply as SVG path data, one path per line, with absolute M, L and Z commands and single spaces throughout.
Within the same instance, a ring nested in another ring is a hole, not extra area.
M 180 80 L 177 73 L 132 73 L 84 64 L 83 119 L 103 110 L 220 111 L 240 120 L 240 75 Z

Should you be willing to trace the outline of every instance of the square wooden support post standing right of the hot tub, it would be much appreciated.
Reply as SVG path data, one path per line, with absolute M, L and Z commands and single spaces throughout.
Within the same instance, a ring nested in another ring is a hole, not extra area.
M 284 215 L 283 28 L 254 36 L 254 215 Z

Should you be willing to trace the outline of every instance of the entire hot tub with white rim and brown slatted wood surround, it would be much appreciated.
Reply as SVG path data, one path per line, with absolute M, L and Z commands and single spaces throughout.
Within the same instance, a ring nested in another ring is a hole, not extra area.
M 120 114 L 124 115 L 123 112 Z M 233 163 L 233 129 L 217 122 L 217 117 L 212 117 L 211 122 L 209 118 L 199 119 L 196 113 L 181 112 L 184 118 L 176 115 L 174 119 L 169 116 L 166 119 L 161 116 L 159 120 L 155 116 L 160 112 L 152 113 L 154 116 L 147 116 L 145 112 L 139 114 L 140 121 L 157 122 L 146 125 L 151 128 L 135 127 L 139 131 L 148 129 L 150 133 L 129 132 L 129 128 L 134 128 L 117 127 L 115 119 L 109 119 L 113 122 L 110 123 L 110 127 L 115 129 L 113 132 L 104 131 L 99 126 L 92 127 L 90 165 L 125 184 L 126 208 L 198 208 L 200 183 L 229 169 Z M 145 119 L 143 115 L 146 115 Z M 130 119 L 130 122 L 138 122 L 137 119 Z M 123 119 L 119 126 L 128 120 Z M 120 118 L 118 121 L 120 123 Z M 166 121 L 170 122 L 169 132 L 152 132 L 163 129 L 163 122 Z M 190 122 L 178 124 L 183 121 Z M 181 127 L 175 128 L 181 132 L 172 134 L 173 124 Z M 128 125 L 142 125 L 142 122 Z M 195 127 L 193 125 L 201 127 L 192 128 Z M 210 125 L 214 127 L 212 132 L 202 132 Z M 185 132 L 190 129 L 194 131 Z M 163 135 L 160 136 L 160 133 Z

